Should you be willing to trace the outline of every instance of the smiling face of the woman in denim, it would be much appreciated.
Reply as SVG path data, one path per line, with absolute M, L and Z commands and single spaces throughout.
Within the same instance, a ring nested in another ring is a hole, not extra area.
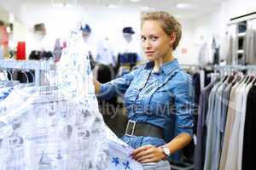
M 143 51 L 149 61 L 172 57 L 172 43 L 175 36 L 168 36 L 161 28 L 160 21 L 145 20 L 142 26 Z

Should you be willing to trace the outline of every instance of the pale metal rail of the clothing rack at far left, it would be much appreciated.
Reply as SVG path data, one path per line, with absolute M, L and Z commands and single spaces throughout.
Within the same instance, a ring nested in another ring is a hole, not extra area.
M 41 75 L 43 71 L 55 70 L 55 63 L 50 61 L 18 61 L 11 59 L 0 59 L 0 70 L 18 69 L 18 70 L 34 70 L 35 71 L 35 86 L 41 85 Z

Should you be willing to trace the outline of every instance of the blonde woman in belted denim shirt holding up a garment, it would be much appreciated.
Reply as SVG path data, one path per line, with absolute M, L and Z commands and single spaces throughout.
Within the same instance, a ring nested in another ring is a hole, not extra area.
M 105 99 L 124 94 L 129 122 L 122 139 L 135 149 L 131 156 L 144 169 L 170 170 L 166 157 L 192 139 L 194 87 L 172 54 L 182 32 L 177 20 L 151 12 L 143 15 L 141 28 L 149 62 L 111 82 L 95 81 L 96 94 Z M 166 141 L 173 132 L 176 137 Z

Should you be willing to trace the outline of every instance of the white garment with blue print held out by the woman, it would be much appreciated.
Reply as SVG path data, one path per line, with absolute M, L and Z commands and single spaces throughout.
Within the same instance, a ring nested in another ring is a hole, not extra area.
M 63 52 L 63 57 L 61 57 L 60 62 L 58 62 L 58 87 L 62 89 L 62 93 L 66 94 L 66 96 L 73 98 L 74 101 L 77 101 L 80 105 L 84 105 L 84 107 L 87 108 L 87 111 L 82 114 L 84 116 L 91 116 L 87 117 L 86 121 L 92 123 L 81 120 L 84 126 L 88 124 L 88 127 L 83 127 L 84 131 L 90 132 L 91 129 L 95 128 L 92 126 L 95 125 L 93 123 L 95 116 L 97 117 L 99 129 L 95 130 L 96 135 L 88 141 L 90 142 L 86 144 L 88 150 L 84 150 L 84 152 L 94 152 L 93 150 L 103 152 L 102 155 L 96 157 L 91 156 L 91 160 L 96 160 L 91 163 L 90 161 L 85 162 L 84 164 L 87 167 L 83 169 L 88 169 L 88 166 L 91 166 L 90 168 L 92 169 L 104 170 L 127 170 L 129 167 L 131 169 L 142 170 L 140 163 L 131 160 L 131 156 L 129 156 L 128 152 L 131 151 L 131 146 L 129 147 L 129 145 L 120 141 L 103 122 L 102 114 L 99 112 L 95 96 L 92 71 L 90 69 L 90 57 L 86 54 L 86 51 L 84 51 L 83 43 L 79 46 L 76 41 L 77 37 L 73 37 L 70 42 L 68 42 L 70 47 L 67 46 Z M 72 72 L 71 75 L 70 71 Z M 75 77 L 73 75 L 75 75 Z M 92 130 L 92 132 L 94 132 L 94 130 Z M 109 135 L 109 133 L 111 133 L 111 135 Z M 88 133 L 84 133 L 83 135 L 87 136 L 87 134 Z M 99 137 L 101 138 L 99 139 Z M 94 141 L 98 141 L 99 143 L 96 144 Z M 106 146 L 105 144 L 108 145 Z M 120 151 L 120 148 L 123 148 L 123 150 Z

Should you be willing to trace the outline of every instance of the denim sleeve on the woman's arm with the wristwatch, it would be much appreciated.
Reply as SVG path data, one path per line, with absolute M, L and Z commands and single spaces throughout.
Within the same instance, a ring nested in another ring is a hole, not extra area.
M 189 133 L 192 137 L 194 126 L 194 111 L 195 111 L 195 88 L 189 75 L 180 75 L 181 79 L 177 80 L 177 86 L 174 89 L 175 95 L 175 114 L 177 134 Z

